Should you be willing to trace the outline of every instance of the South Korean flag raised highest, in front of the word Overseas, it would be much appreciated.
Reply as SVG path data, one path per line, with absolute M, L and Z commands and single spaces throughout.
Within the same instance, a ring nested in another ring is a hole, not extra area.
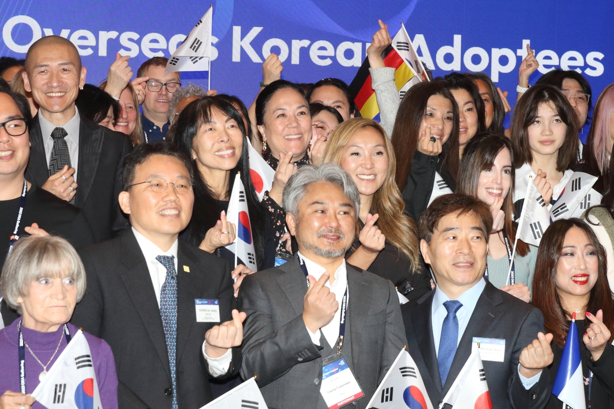
M 209 71 L 213 7 L 198 20 L 190 35 L 169 58 L 164 75 L 175 71 Z

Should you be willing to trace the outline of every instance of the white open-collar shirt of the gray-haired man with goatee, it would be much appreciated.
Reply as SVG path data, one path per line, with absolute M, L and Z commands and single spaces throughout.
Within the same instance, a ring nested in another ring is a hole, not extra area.
M 313 275 L 316 281 L 319 280 L 320 277 L 322 277 L 322 274 L 324 274 L 324 272 L 326 271 L 326 269 L 319 264 L 316 264 L 313 261 L 309 260 L 308 258 L 305 258 L 305 256 L 303 256 L 303 254 L 301 254 L 300 252 L 298 253 L 298 256 L 305 262 L 305 267 L 307 267 L 307 272 L 309 273 L 309 275 Z M 305 285 L 307 285 L 306 281 Z M 348 286 L 348 271 L 346 269 L 345 259 L 341 261 L 341 266 L 339 266 L 339 268 L 335 272 L 335 281 L 330 284 L 330 281 L 327 280 L 325 286 L 330 288 L 330 292 L 335 294 L 335 300 L 337 300 L 337 302 L 341 306 L 343 294 L 345 294 L 345 290 Z M 346 302 L 349 303 L 349 291 L 348 299 L 346 300 Z M 322 327 L 320 331 L 317 331 L 314 334 L 313 332 L 309 331 L 309 328 L 307 329 L 309 335 L 311 336 L 311 341 L 313 341 L 315 345 L 320 345 L 320 332 L 322 332 L 322 334 L 324 334 L 324 338 L 326 338 L 326 341 L 328 342 L 328 345 L 334 347 L 339 338 L 340 321 L 341 308 L 337 308 L 333 319 L 330 320 L 330 323 Z

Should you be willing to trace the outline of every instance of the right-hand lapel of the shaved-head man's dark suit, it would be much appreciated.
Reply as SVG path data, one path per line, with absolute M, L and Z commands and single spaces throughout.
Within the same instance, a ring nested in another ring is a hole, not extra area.
M 77 207 L 82 208 L 90 194 L 100 161 L 103 140 L 103 128 L 89 123 L 82 117 L 79 123 L 79 164 L 77 165 L 79 167 L 77 169 L 79 188 L 75 202 Z M 115 175 L 112 175 L 112 177 L 115 177 Z

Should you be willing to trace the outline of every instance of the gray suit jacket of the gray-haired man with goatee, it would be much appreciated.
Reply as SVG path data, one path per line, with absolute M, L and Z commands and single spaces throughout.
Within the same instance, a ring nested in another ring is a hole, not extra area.
M 365 408 L 405 345 L 398 296 L 388 280 L 347 265 L 346 340 L 341 352 L 365 394 Z M 323 346 L 311 341 L 303 321 L 305 274 L 297 258 L 244 278 L 240 310 L 243 331 L 241 375 L 257 375 L 269 408 L 320 408 Z M 321 345 L 325 338 L 321 335 Z

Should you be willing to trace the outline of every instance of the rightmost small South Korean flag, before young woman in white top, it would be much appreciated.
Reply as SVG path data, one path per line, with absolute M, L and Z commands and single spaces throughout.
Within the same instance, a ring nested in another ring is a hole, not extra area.
M 601 203 L 601 195 L 593 189 L 597 177 L 573 172 L 561 196 L 550 209 L 552 220 L 581 217 L 587 208 Z

